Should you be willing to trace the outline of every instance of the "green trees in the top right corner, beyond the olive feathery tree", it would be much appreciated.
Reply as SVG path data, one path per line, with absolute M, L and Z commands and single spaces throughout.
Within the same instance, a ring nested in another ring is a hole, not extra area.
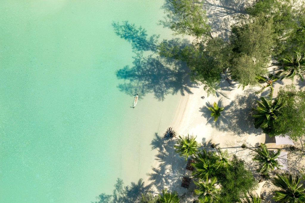
M 294 52 L 304 51 L 305 45 L 305 4 L 297 7 L 292 0 L 256 1 L 246 8 L 250 16 L 264 16 L 272 19 L 275 46 L 272 47 L 275 59 L 285 58 Z

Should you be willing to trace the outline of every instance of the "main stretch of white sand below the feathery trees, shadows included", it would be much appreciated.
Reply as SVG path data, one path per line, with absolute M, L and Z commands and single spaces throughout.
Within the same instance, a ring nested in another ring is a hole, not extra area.
M 273 72 L 272 67 L 270 72 Z M 283 80 L 283 83 L 277 84 L 274 87 L 276 95 L 278 88 L 291 84 L 291 80 Z M 282 151 L 288 151 L 287 145 L 275 146 L 275 139 L 271 139 L 268 135 L 261 132 L 260 129 L 254 128 L 254 117 L 251 116 L 252 108 L 256 106 L 255 100 L 260 96 L 254 94 L 256 89 L 246 87 L 237 88 L 235 84 L 229 84 L 227 80 L 222 79 L 220 89 L 217 90 L 216 96 L 207 96 L 203 90 L 203 86 L 196 86 L 191 89 L 192 94 L 182 96 L 177 110 L 174 114 L 174 119 L 171 127 L 178 135 L 197 136 L 196 141 L 200 143 L 200 150 L 214 150 L 210 147 L 215 143 L 222 149 L 227 149 L 231 155 L 236 155 L 246 161 L 249 170 L 253 171 L 254 177 L 260 180 L 261 177 L 255 172 L 257 166 L 252 161 L 253 152 L 249 149 L 242 149 L 241 145 L 246 144 L 250 148 L 255 148 L 259 143 L 267 143 L 270 150 L 282 148 Z M 204 96 L 204 99 L 201 97 Z M 224 111 L 217 122 L 213 121 L 210 116 L 210 111 L 207 105 L 218 103 L 224 107 Z M 191 192 L 195 188 L 195 184 L 191 183 L 188 189 L 181 187 L 182 177 L 187 176 L 192 178 L 191 171 L 186 170 L 186 161 L 184 157 L 180 157 L 174 150 L 176 139 L 170 142 L 165 142 L 163 132 L 160 132 L 160 146 L 156 152 L 155 160 L 152 164 L 152 169 L 147 174 L 145 185 L 152 185 L 152 192 L 161 193 L 162 189 L 167 188 L 168 191 L 177 191 L 182 198 L 181 202 L 192 202 L 194 199 Z M 162 140 L 162 141 L 161 141 Z M 296 145 L 298 143 L 295 142 Z M 288 154 L 288 159 L 291 159 L 290 167 L 293 170 L 297 159 L 297 155 Z M 304 166 L 304 163 L 299 163 L 299 166 Z M 274 173 L 284 173 L 283 170 L 275 170 Z M 270 191 L 274 189 L 271 180 L 263 186 L 263 193 L 271 195 Z

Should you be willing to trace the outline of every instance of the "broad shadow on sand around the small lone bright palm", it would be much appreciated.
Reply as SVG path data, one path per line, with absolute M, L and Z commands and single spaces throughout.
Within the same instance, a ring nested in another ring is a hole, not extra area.
M 254 117 L 252 117 L 252 108 L 256 107 L 255 100 L 258 100 L 258 96 L 254 94 L 253 90 L 245 90 L 224 107 L 224 111 L 221 112 L 221 116 L 216 122 L 213 121 L 213 117 L 210 116 L 211 111 L 206 107 L 210 105 L 209 103 L 200 108 L 199 111 L 202 112 L 203 117 L 208 119 L 208 124 L 220 131 L 231 131 L 240 136 L 245 133 L 260 135 L 261 130 L 254 127 Z

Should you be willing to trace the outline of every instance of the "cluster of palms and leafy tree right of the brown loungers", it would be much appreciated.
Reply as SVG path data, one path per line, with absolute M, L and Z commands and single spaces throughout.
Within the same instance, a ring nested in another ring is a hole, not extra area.
M 245 161 L 233 156 L 228 161 L 226 153 L 206 152 L 203 150 L 195 158 L 193 175 L 199 179 L 195 182 L 200 202 L 238 202 L 249 190 L 257 186 L 251 171 L 246 170 Z M 220 185 L 220 190 L 216 189 Z M 208 194 L 206 197 L 203 194 Z

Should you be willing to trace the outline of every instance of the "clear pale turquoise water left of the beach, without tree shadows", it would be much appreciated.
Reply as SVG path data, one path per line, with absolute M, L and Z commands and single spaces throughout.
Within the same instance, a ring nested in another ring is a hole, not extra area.
M 120 91 L 131 45 L 111 23 L 149 35 L 162 0 L 2 0 L 0 3 L 0 202 L 90 202 L 117 178 L 145 179 L 150 145 L 168 127 L 180 94 Z

